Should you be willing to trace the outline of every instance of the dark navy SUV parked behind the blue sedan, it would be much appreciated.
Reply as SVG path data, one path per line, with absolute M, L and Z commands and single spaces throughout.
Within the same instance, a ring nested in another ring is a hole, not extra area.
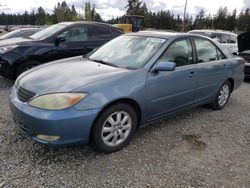
M 87 54 L 123 31 L 96 22 L 63 22 L 29 38 L 0 42 L 0 75 L 16 78 L 22 72 L 49 61 Z

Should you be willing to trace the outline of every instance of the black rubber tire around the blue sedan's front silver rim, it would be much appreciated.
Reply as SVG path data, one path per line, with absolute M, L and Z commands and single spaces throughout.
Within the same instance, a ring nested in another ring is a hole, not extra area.
M 111 147 L 111 146 L 106 145 L 103 142 L 101 134 L 102 134 L 102 128 L 103 128 L 104 122 L 111 114 L 113 114 L 116 111 L 127 112 L 132 119 L 132 127 L 131 127 L 131 130 L 127 139 L 124 142 L 122 142 L 118 146 Z M 115 152 L 129 144 L 132 137 L 134 136 L 136 127 L 137 127 L 137 115 L 133 107 L 131 107 L 130 105 L 126 103 L 117 103 L 106 108 L 104 111 L 101 112 L 101 114 L 99 115 L 99 117 L 97 118 L 97 120 L 95 121 L 93 125 L 93 129 L 91 132 L 91 142 L 93 146 L 99 151 L 102 151 L 105 153 Z

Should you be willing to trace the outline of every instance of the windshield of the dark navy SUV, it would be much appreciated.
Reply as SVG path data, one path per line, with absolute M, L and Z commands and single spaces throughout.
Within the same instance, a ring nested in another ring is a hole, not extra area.
M 55 24 L 35 33 L 34 35 L 31 35 L 30 38 L 35 39 L 35 40 L 42 40 L 60 31 L 64 27 L 66 26 L 62 24 Z

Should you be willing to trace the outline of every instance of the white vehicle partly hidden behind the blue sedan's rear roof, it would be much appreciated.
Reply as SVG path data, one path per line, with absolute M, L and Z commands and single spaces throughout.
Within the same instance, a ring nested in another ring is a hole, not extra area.
M 238 53 L 237 35 L 221 30 L 192 30 L 190 34 L 204 35 L 225 46 L 231 53 Z

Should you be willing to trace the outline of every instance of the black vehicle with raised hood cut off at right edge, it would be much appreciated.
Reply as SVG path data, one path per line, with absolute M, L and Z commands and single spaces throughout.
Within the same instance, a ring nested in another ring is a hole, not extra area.
M 246 61 L 245 77 L 250 79 L 250 32 L 238 36 L 239 55 Z

